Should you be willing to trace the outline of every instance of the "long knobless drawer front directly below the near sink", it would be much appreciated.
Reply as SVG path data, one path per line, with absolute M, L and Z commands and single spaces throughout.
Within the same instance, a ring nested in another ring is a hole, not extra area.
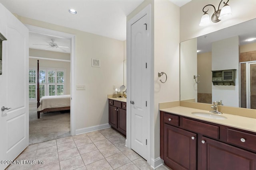
M 219 127 L 216 125 L 210 125 L 208 123 L 202 123 L 186 118 L 182 119 L 182 123 L 182 127 L 184 129 L 187 129 L 188 131 L 191 131 L 191 129 L 193 129 L 193 132 L 201 133 L 204 136 L 219 139 Z

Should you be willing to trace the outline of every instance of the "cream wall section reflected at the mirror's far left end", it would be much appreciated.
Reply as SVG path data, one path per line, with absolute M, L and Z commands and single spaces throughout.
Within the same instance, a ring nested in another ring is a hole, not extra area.
M 197 39 L 180 43 L 180 100 L 195 99 L 197 102 Z M 200 77 L 198 78 L 200 79 Z

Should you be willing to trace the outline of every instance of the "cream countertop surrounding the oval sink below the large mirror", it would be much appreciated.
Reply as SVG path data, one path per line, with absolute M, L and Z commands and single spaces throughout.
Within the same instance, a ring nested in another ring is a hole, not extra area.
M 209 110 L 194 109 L 194 108 L 182 107 L 182 106 L 160 109 L 160 111 L 165 111 L 165 112 L 168 112 L 168 113 L 174 113 L 174 114 L 177 114 L 177 115 L 191 117 L 191 118 L 194 118 L 194 119 L 208 121 L 208 122 L 212 122 L 212 123 L 218 123 L 220 125 L 235 127 L 235 128 L 238 128 L 238 129 L 244 129 L 244 130 L 252 131 L 252 132 L 256 133 L 256 119 L 250 118 L 250 117 L 243 117 L 243 116 L 223 113 L 222 115 L 227 117 L 227 119 L 209 119 L 209 118 L 199 117 L 199 116 L 196 116 L 196 115 L 192 114 L 192 112 L 206 112 L 206 113 L 208 113 Z

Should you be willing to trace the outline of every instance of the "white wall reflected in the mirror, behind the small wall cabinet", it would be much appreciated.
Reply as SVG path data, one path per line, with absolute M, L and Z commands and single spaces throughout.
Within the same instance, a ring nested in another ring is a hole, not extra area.
M 212 43 L 212 70 L 236 69 L 235 86 L 212 84 L 212 101 L 222 100 L 225 106 L 239 107 L 239 37 Z

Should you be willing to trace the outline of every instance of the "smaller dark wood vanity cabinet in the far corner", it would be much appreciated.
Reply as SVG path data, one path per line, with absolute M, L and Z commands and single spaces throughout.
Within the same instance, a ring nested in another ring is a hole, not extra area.
M 126 136 L 126 102 L 108 100 L 108 123 L 113 129 Z

